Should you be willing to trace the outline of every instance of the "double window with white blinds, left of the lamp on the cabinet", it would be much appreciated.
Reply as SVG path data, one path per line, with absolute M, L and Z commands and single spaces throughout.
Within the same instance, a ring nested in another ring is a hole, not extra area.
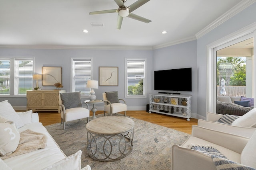
M 33 59 L 0 60 L 0 95 L 26 95 L 33 88 Z

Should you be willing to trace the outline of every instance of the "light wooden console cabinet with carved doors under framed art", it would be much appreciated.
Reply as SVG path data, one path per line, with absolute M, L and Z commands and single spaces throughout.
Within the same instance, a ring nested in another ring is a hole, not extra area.
M 27 90 L 27 110 L 57 111 L 60 113 L 60 93 L 66 90 Z

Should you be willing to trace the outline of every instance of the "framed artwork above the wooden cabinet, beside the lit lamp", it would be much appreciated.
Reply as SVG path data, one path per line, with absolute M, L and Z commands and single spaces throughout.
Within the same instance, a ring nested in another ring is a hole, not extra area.
M 62 67 L 42 67 L 43 86 L 54 86 L 55 83 L 62 84 Z

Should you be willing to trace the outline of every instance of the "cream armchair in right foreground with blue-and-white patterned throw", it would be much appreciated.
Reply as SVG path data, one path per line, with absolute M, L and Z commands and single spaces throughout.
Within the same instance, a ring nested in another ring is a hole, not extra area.
M 247 138 L 193 125 L 192 135 L 182 146 L 172 146 L 171 169 L 216 170 L 237 166 L 256 168 L 255 143 L 256 131 L 251 138 Z

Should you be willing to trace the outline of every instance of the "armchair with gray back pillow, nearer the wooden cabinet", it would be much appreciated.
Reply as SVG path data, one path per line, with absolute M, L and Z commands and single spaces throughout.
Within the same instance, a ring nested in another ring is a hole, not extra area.
M 60 117 L 63 129 L 67 121 L 87 118 L 89 122 L 90 108 L 86 102 L 81 102 L 80 92 L 60 93 L 60 98 L 62 100 Z M 82 107 L 82 104 L 85 104 L 87 109 Z

